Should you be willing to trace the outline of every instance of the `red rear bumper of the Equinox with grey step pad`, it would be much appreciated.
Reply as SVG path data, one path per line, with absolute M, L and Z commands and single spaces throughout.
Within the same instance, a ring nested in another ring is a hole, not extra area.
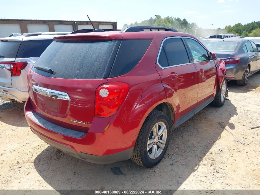
M 25 104 L 25 117 L 31 130 L 47 144 L 72 156 L 97 164 L 128 160 L 145 119 L 124 122 L 117 115 L 94 118 L 88 132 L 79 132 L 50 124 L 39 116 L 32 117 L 30 98 Z M 77 133 L 78 132 L 78 133 Z

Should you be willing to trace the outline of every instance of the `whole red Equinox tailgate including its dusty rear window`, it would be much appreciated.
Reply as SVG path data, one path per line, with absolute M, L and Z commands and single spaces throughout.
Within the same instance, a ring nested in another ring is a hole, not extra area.
M 53 41 L 29 72 L 34 111 L 58 126 L 87 132 L 96 89 L 107 82 L 120 42 Z

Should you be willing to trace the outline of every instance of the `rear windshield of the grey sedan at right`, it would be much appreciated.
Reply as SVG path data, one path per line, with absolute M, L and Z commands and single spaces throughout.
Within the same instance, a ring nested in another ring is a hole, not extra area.
M 210 51 L 235 51 L 239 42 L 234 41 L 214 41 L 214 42 L 207 42 L 204 45 Z

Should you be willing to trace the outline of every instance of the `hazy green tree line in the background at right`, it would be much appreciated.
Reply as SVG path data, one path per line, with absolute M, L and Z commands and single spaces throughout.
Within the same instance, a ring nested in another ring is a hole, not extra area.
M 218 29 L 202 29 L 197 26 L 196 23 L 192 22 L 189 23 L 185 18 L 175 18 L 167 16 L 165 18 L 162 18 L 160 15 L 156 16 L 156 19 L 149 18 L 147 20 L 144 20 L 140 23 L 135 22 L 131 24 L 125 24 L 123 26 L 123 29 L 127 26 L 166 26 L 174 28 L 180 32 L 185 32 L 192 34 L 196 37 L 202 37 L 206 35 L 218 35 L 218 34 L 226 34 L 226 33 L 232 33 L 234 35 L 238 36 L 260 36 L 260 21 L 258 22 L 251 22 L 248 24 L 242 25 L 241 23 L 237 23 L 234 26 L 225 26 L 225 28 L 218 28 Z

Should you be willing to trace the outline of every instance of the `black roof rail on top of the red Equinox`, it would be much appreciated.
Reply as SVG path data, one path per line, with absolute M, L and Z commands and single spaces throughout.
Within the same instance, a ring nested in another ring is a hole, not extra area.
M 128 26 L 120 32 L 142 32 L 142 31 L 172 31 L 178 32 L 174 28 L 163 26 Z

